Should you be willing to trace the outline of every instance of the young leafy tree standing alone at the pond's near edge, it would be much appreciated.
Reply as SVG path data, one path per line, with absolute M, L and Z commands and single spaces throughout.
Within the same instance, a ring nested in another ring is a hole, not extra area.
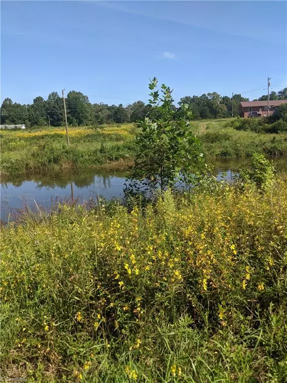
M 199 140 L 193 135 L 188 105 L 175 120 L 171 89 L 162 84 L 161 95 L 154 77 L 149 83 L 151 105 L 148 117 L 139 123 L 141 133 L 137 136 L 137 154 L 133 178 L 141 180 L 145 188 L 164 190 L 173 188 L 176 180 L 190 183 L 192 173 L 202 163 Z

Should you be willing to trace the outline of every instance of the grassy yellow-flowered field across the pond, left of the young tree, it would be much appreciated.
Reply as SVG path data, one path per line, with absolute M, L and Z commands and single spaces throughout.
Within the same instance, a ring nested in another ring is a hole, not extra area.
M 69 148 L 64 128 L 1 131 L 1 174 L 126 169 L 133 163 L 136 131 L 131 124 L 69 128 Z

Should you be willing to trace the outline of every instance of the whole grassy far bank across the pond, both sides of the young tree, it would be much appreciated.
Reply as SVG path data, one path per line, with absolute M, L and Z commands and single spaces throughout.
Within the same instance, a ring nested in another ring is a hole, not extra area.
M 268 134 L 239 131 L 232 120 L 192 122 L 208 159 L 244 159 L 252 153 L 271 157 L 287 155 L 287 133 Z M 134 124 L 69 128 L 67 148 L 64 128 L 1 131 L 1 174 L 42 175 L 84 167 L 124 170 L 135 156 Z

